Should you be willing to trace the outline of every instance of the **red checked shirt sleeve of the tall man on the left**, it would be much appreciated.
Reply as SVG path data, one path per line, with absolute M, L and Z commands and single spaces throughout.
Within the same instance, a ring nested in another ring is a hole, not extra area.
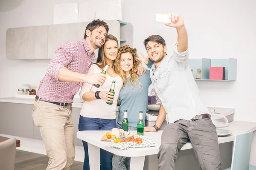
M 60 69 L 67 67 L 67 65 L 73 60 L 73 56 L 76 55 L 77 51 L 78 45 L 74 42 L 61 44 L 58 47 L 47 68 L 47 75 L 51 77 L 51 80 L 59 81 L 58 73 Z

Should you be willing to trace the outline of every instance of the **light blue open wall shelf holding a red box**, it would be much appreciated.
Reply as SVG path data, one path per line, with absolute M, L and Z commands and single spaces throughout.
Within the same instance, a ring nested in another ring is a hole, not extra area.
M 195 79 L 195 81 L 214 81 L 214 82 L 229 82 L 236 80 L 236 67 L 237 59 L 189 59 L 189 67 L 193 69 L 194 79 L 197 74 L 197 68 L 202 69 L 202 79 Z M 210 67 L 225 67 L 225 79 L 224 80 L 212 80 L 209 79 Z

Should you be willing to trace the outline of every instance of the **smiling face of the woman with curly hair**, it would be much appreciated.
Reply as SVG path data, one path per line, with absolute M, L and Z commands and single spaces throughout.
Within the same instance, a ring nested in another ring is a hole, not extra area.
M 125 71 L 126 75 L 129 74 L 129 71 L 133 67 L 133 57 L 131 53 L 123 53 L 120 58 L 120 66 L 123 71 Z

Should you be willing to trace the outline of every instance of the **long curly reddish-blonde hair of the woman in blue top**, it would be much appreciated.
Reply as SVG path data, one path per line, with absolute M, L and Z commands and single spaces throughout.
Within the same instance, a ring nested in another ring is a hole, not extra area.
M 135 88 L 135 86 L 137 86 L 139 89 L 142 89 L 142 85 L 140 83 L 140 79 L 138 78 L 137 75 L 137 69 L 138 66 L 141 64 L 141 61 L 136 59 L 136 57 L 138 57 L 137 55 L 137 49 L 136 48 L 131 48 L 129 45 L 121 45 L 118 53 L 117 53 L 117 57 L 116 57 L 116 62 L 115 62 L 115 72 L 119 74 L 119 76 L 122 78 L 123 80 L 123 87 L 122 89 L 125 87 L 126 83 L 127 83 L 127 77 L 125 74 L 125 71 L 123 71 L 121 69 L 120 66 L 120 62 L 121 62 L 121 55 L 124 53 L 130 53 L 133 57 L 133 67 L 130 70 L 130 81 L 132 84 L 132 90 Z

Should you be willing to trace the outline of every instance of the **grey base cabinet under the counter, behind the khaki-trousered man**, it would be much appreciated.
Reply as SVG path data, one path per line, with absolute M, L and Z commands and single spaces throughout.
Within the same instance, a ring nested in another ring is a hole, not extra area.
M 0 134 L 42 140 L 39 127 L 34 124 L 32 118 L 32 104 L 0 102 L 0 108 Z M 74 122 L 74 143 L 77 146 L 83 146 L 82 141 L 76 138 L 80 108 L 72 108 L 72 115 Z

